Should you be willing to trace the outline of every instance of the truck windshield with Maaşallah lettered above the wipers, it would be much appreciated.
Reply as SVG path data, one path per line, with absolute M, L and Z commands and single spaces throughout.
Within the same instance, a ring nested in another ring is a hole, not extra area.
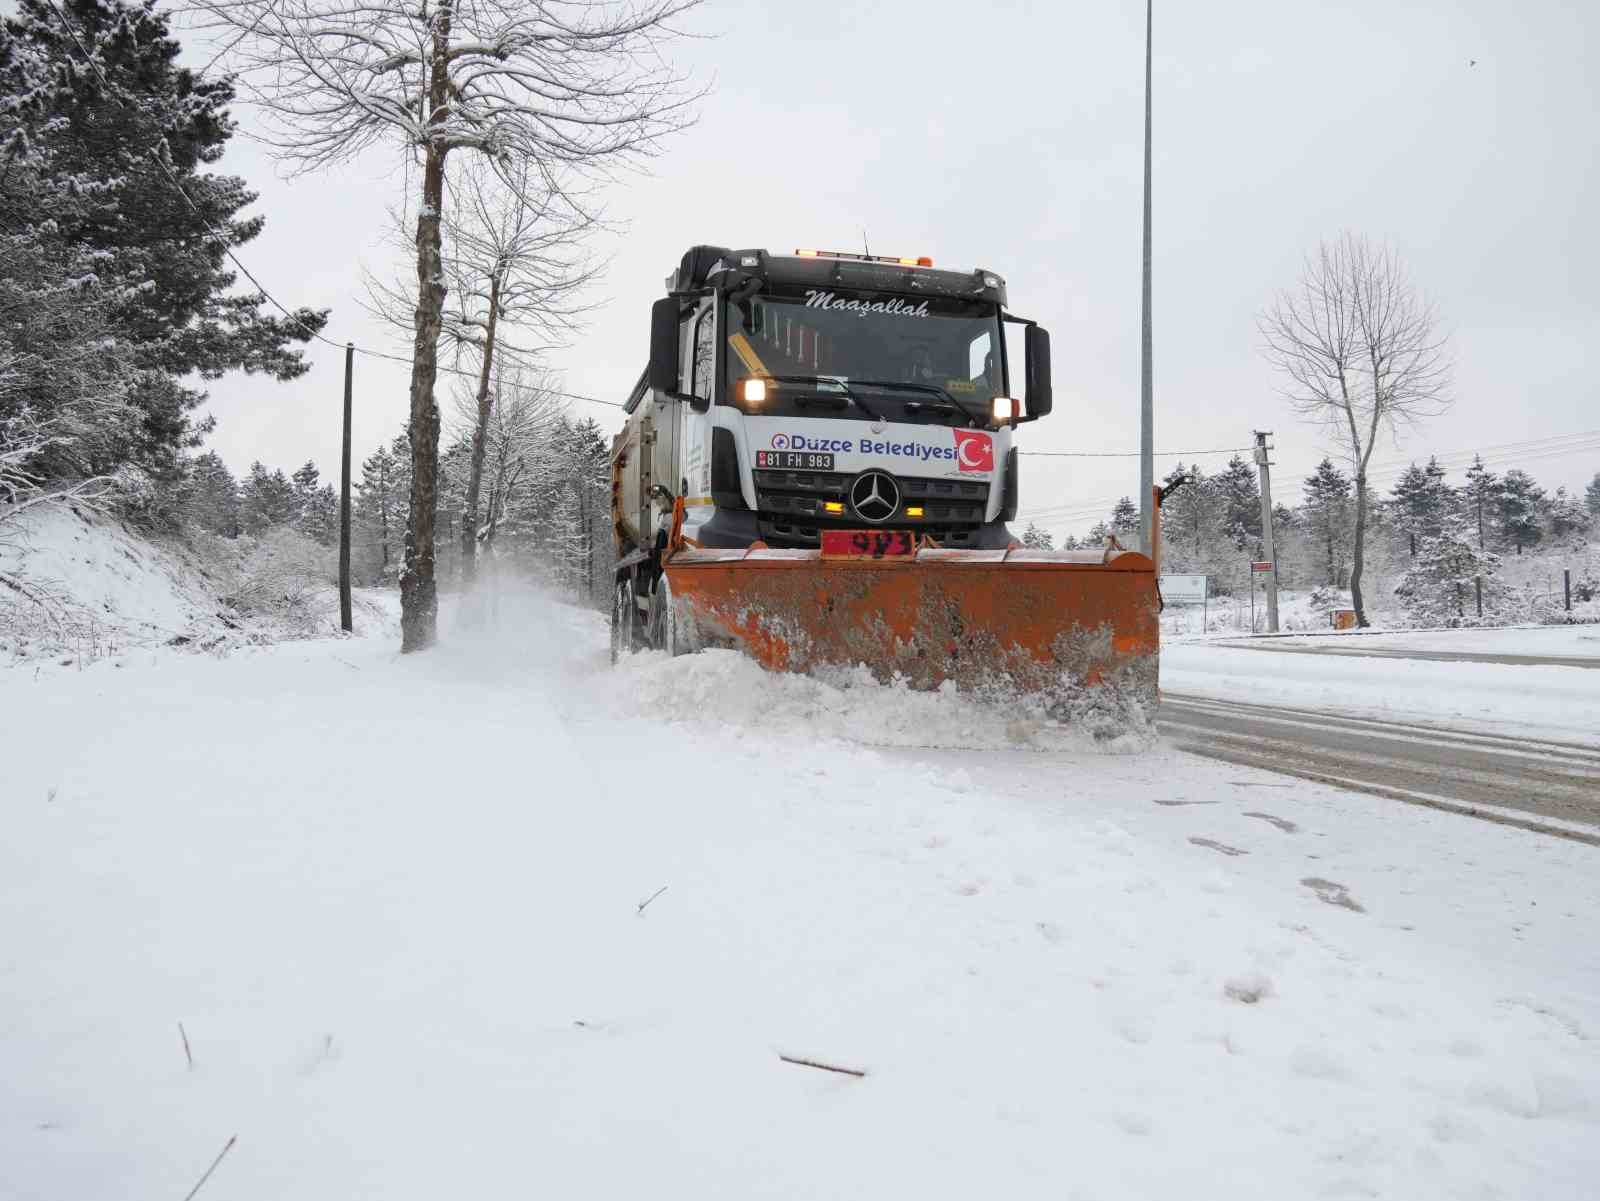
M 992 304 L 813 289 L 728 315 L 726 397 L 746 413 L 982 425 L 1005 390 Z M 763 401 L 742 398 L 750 377 Z

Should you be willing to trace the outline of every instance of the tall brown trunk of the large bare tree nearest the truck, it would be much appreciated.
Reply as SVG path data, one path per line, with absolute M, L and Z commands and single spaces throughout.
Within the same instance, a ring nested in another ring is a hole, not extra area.
M 429 78 L 429 125 L 442 125 L 450 104 L 451 0 L 434 18 L 434 67 Z M 434 579 L 434 521 L 438 510 L 438 331 L 445 313 L 445 265 L 440 217 L 445 209 L 448 147 L 427 141 L 422 158 L 422 208 L 416 216 L 416 341 L 411 349 L 411 510 L 400 571 L 400 651 L 422 651 L 438 636 L 438 585 Z

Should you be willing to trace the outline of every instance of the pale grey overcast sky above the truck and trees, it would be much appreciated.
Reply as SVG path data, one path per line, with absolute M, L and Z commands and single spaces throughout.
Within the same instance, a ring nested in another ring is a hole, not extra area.
M 1277 397 L 1254 318 L 1318 238 L 1355 230 L 1398 249 L 1454 360 L 1454 408 L 1379 446 L 1379 465 L 1482 449 L 1550 488 L 1592 478 L 1600 433 L 1515 443 L 1600 432 L 1600 5 L 1157 0 L 1155 21 L 1157 451 L 1274 430 L 1275 494 L 1298 499 L 1326 446 Z M 998 270 L 1011 309 L 1051 331 L 1056 411 L 1024 451 L 1134 451 L 1142 22 L 1138 0 L 707 0 L 690 22 L 704 38 L 670 51 L 712 88 L 699 123 L 606 189 L 626 229 L 597 246 L 602 307 L 552 365 L 622 400 L 685 248 L 859 249 L 866 230 L 874 253 Z M 243 259 L 267 288 L 331 307 L 338 341 L 386 345 L 357 301 L 363 265 L 397 265 L 382 225 L 400 149 L 286 179 L 237 139 L 222 166 L 261 192 Z M 310 358 L 290 384 L 211 385 L 210 445 L 235 470 L 310 457 L 336 477 L 342 355 Z M 358 462 L 402 430 L 408 368 L 357 371 Z M 621 417 L 576 408 L 608 432 Z M 1029 459 L 1022 515 L 1082 531 L 1136 486 L 1136 457 Z

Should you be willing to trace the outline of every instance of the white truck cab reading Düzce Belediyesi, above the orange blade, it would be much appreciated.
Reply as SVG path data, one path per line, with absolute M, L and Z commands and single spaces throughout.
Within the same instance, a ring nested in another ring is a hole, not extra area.
M 613 457 L 646 544 L 683 499 L 706 547 L 814 549 L 826 529 L 1011 542 L 1011 433 L 1050 411 L 1048 334 L 1005 280 L 928 259 L 694 246 L 651 313 L 651 360 Z M 1003 323 L 1027 329 L 1027 411 Z

